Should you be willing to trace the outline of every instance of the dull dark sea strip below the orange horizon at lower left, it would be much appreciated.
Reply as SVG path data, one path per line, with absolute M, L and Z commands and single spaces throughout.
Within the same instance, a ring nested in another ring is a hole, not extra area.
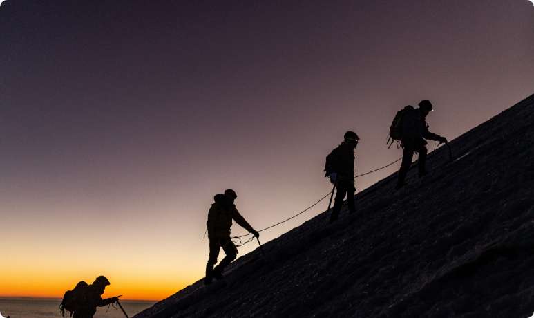
M 3 317 L 11 318 L 59 318 L 59 303 L 61 299 L 40 298 L 2 298 L 0 297 L 0 312 Z M 151 307 L 155 301 L 120 301 L 128 317 L 137 315 L 142 310 Z M 106 312 L 107 311 L 107 312 Z M 124 318 L 120 308 L 99 307 L 95 318 Z

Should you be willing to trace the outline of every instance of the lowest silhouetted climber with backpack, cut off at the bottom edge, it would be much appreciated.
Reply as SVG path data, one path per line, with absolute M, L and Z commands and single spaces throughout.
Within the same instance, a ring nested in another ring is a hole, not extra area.
M 97 307 L 115 303 L 119 297 L 102 299 L 106 286 L 110 283 L 104 276 L 99 276 L 91 285 L 85 281 L 77 283 L 73 290 L 65 292 L 63 301 L 59 305 L 61 314 L 65 317 L 65 310 L 74 313 L 74 318 L 91 318 L 97 312 Z

